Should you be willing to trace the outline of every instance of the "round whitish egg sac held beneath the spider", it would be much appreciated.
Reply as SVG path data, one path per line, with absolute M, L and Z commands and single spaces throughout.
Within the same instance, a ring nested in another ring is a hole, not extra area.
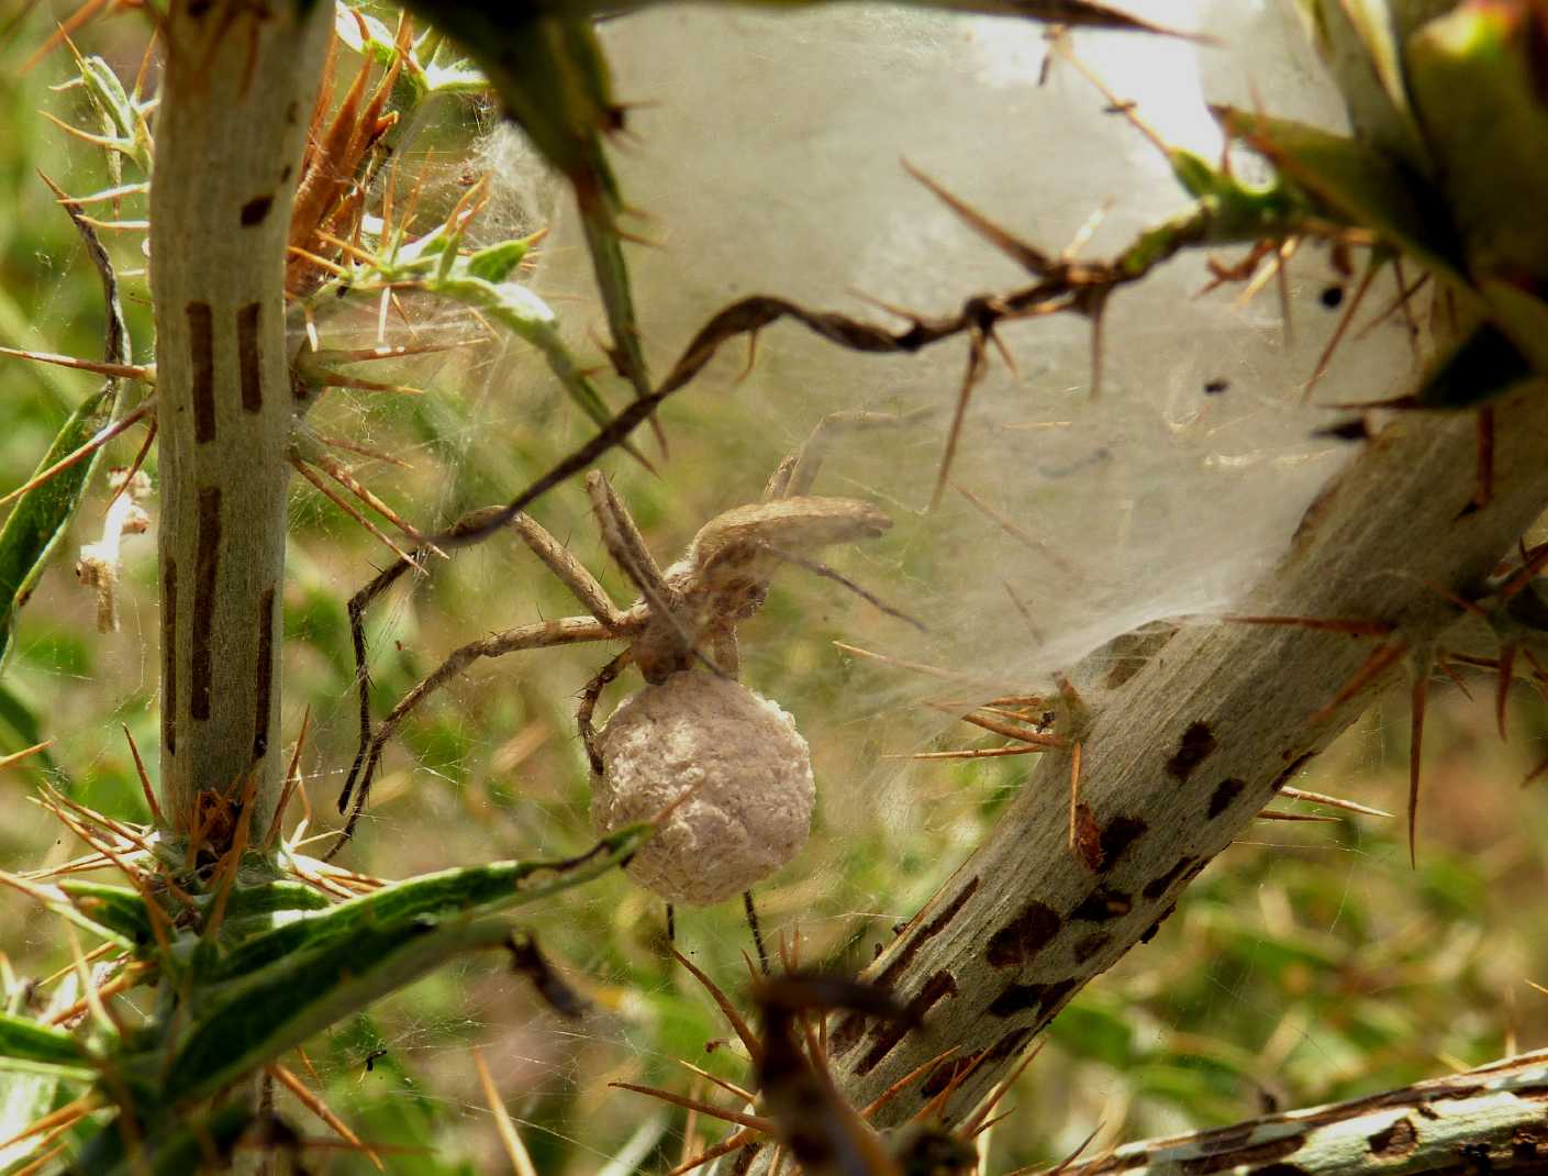
M 599 738 L 591 824 L 655 820 L 690 793 L 635 855 L 628 875 L 667 902 L 740 894 L 807 843 L 811 751 L 779 705 L 729 679 L 672 674 L 619 707 Z

